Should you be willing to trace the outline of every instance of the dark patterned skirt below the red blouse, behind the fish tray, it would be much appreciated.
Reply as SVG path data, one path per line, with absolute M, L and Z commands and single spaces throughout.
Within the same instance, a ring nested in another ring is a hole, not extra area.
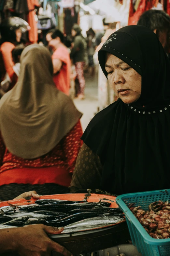
M 38 193 L 38 195 L 42 196 L 69 193 L 69 188 L 54 183 L 46 183 L 42 185 L 11 183 L 9 185 L 0 186 L 0 200 L 12 200 L 13 198 L 19 196 L 24 192 L 33 190 L 35 190 Z

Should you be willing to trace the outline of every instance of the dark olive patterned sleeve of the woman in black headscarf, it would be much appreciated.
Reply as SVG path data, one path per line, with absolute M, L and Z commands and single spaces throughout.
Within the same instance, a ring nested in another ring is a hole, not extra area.
M 102 170 L 99 156 L 83 143 L 73 172 L 70 193 L 76 193 L 79 189 L 99 188 Z

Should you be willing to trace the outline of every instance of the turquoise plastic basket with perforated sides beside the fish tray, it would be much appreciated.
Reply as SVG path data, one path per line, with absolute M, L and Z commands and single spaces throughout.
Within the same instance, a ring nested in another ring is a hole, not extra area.
M 132 243 L 143 256 L 170 256 L 170 238 L 155 239 L 149 236 L 128 205 L 135 203 L 141 209 L 148 210 L 150 203 L 155 201 L 170 201 L 170 189 L 124 194 L 116 198 L 117 204 L 124 212 Z

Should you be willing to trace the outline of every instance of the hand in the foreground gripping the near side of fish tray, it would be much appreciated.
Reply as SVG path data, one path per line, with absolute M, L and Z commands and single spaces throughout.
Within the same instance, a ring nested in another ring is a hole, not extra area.
M 11 242 L 14 244 L 14 251 L 20 256 L 51 256 L 52 251 L 64 256 L 72 256 L 67 249 L 52 241 L 47 235 L 61 233 L 63 228 L 36 224 L 11 230 L 16 230 Z

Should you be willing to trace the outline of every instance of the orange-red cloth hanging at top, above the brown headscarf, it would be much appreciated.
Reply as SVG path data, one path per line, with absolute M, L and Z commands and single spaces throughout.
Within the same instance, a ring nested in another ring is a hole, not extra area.
M 31 27 L 29 31 L 29 41 L 31 43 L 37 43 L 38 41 L 38 33 L 37 33 L 37 23 L 35 21 L 35 7 L 39 7 L 38 0 L 27 0 L 28 4 L 28 23 Z

